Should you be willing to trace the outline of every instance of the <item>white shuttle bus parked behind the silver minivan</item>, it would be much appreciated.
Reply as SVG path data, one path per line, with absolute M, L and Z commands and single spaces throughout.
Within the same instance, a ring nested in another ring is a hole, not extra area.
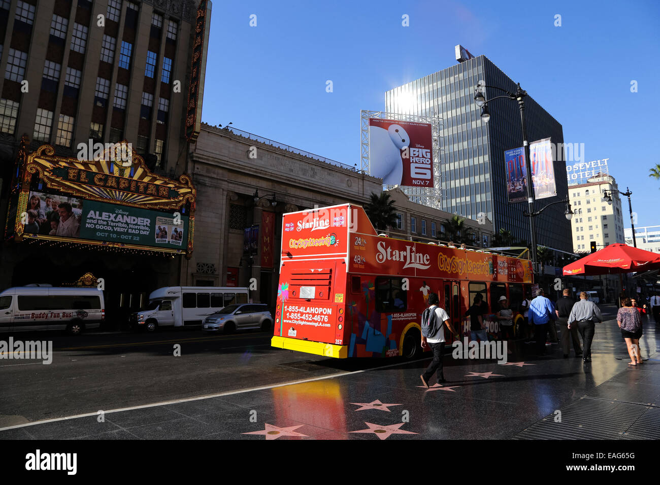
M 149 295 L 146 309 L 131 313 L 131 324 L 153 332 L 158 327 L 201 325 L 228 305 L 248 303 L 248 288 L 166 286 Z

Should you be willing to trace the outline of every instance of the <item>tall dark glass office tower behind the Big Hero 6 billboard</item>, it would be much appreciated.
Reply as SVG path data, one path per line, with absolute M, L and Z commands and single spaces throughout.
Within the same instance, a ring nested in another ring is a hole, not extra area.
M 529 219 L 523 216 L 527 201 L 509 203 L 506 192 L 504 150 L 523 145 L 519 106 L 506 98 L 489 102 L 490 121 L 484 123 L 474 100 L 480 80 L 510 92 L 516 88 L 515 82 L 490 59 L 480 55 L 387 91 L 385 111 L 442 117 L 442 210 L 472 219 L 486 214 L 495 232 L 504 228 L 514 238 L 529 242 Z M 486 99 L 502 94 L 486 89 Z M 530 143 L 548 137 L 554 144 L 564 143 L 562 125 L 531 96 L 525 98 L 525 120 Z M 557 196 L 535 202 L 535 210 L 568 195 L 561 150 L 555 158 L 560 158 L 554 160 Z M 535 218 L 539 245 L 572 251 L 571 226 L 564 210 L 563 204 L 557 204 Z

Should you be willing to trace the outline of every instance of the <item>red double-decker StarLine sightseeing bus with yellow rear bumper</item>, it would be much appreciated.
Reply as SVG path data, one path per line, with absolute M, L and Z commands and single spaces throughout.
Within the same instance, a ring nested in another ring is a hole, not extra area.
M 491 313 L 502 295 L 515 308 L 533 277 L 527 259 L 378 236 L 348 204 L 284 214 L 281 247 L 271 345 L 337 358 L 420 355 L 430 292 L 469 335 L 464 315 L 477 293 Z M 496 320 L 484 321 L 496 339 Z

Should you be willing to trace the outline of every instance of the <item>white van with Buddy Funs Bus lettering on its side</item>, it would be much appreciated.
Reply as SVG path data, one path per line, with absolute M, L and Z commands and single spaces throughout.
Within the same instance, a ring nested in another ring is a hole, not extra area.
M 0 293 L 0 332 L 98 329 L 106 317 L 96 288 L 16 286 Z

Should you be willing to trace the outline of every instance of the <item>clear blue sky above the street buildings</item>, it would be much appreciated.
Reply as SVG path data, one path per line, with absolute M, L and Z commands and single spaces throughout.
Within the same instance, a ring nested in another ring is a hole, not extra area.
M 585 144 L 585 161 L 609 158 L 636 226 L 660 224 L 660 180 L 648 176 L 660 163 L 659 23 L 651 0 L 216 0 L 202 119 L 359 166 L 360 110 L 455 64 L 461 44 L 520 82 L 566 143 Z

